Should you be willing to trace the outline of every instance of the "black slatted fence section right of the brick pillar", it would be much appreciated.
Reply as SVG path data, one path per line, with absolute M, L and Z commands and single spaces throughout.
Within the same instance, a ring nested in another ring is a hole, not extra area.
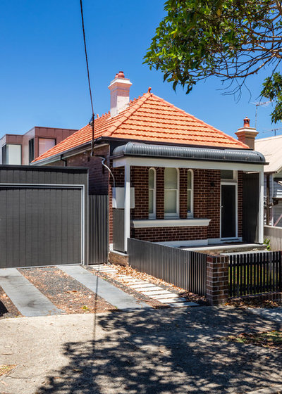
M 229 256 L 229 296 L 282 290 L 281 252 Z

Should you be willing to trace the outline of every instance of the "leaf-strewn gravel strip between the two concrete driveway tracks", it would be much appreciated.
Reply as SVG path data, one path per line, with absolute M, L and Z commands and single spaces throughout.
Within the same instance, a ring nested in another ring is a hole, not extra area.
M 116 310 L 95 293 L 57 267 L 18 269 L 56 307 L 66 314 Z

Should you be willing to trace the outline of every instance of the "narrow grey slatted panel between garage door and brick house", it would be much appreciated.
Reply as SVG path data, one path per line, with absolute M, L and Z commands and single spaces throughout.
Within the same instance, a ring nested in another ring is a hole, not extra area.
M 108 196 L 89 196 L 89 264 L 108 260 L 108 212 Z

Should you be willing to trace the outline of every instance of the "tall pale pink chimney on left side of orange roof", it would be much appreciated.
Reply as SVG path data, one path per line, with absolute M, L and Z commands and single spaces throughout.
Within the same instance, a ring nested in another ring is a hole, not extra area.
M 129 89 L 132 83 L 125 78 L 123 71 L 118 72 L 111 81 L 111 117 L 118 115 L 129 103 Z

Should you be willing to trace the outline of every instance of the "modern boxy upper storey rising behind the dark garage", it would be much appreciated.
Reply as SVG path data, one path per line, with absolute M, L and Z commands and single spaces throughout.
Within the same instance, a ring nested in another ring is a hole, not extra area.
M 0 164 L 28 165 L 76 131 L 35 126 L 25 134 L 5 134 L 0 139 Z

